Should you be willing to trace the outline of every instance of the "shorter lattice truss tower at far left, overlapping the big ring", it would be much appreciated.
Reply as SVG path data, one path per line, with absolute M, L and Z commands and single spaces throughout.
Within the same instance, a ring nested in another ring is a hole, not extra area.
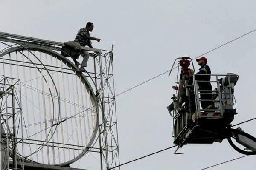
M 24 159 L 18 153 L 18 127 L 23 126 L 20 101 L 20 80 L 9 77 L 0 79 L 0 170 L 23 170 Z M 22 136 L 23 134 L 21 134 Z M 21 142 L 23 152 L 23 142 Z

